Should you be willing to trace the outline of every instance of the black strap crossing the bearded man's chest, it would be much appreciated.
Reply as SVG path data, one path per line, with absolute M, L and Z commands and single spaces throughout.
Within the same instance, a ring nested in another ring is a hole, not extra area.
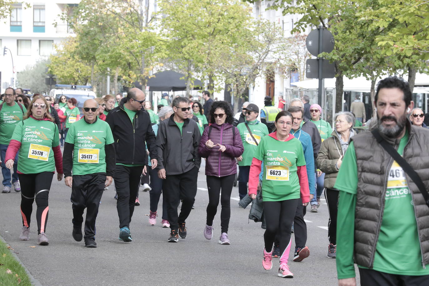
M 399 155 L 399 153 L 395 150 L 395 148 L 393 148 L 392 145 L 387 143 L 387 141 L 384 140 L 383 137 L 381 137 L 377 129 L 372 130 L 371 133 L 377 140 L 378 144 L 380 144 L 381 147 L 383 147 L 383 149 L 386 150 L 387 153 L 389 153 L 389 155 L 393 157 L 396 163 L 398 163 L 399 166 L 402 167 L 404 172 L 407 173 L 408 176 L 410 176 L 411 180 L 413 180 L 414 184 L 416 184 L 419 188 L 420 193 L 425 199 L 426 205 L 429 206 L 429 193 L 427 192 L 422 179 L 419 177 L 416 171 L 414 171 L 413 167 L 411 167 L 410 164 L 408 164 L 407 161 L 405 161 L 405 159 L 401 155 Z

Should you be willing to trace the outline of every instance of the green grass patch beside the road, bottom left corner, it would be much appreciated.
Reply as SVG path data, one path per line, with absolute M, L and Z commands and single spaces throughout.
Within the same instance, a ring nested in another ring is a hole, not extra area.
M 27 272 L 12 256 L 12 251 L 0 241 L 0 285 L 31 286 Z

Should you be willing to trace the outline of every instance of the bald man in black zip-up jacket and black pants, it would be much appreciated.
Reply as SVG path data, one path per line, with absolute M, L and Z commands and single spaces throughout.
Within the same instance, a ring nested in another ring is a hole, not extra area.
M 140 177 L 145 166 L 145 141 L 151 157 L 152 169 L 157 167 L 155 133 L 149 114 L 143 105 L 146 96 L 142 90 L 131 88 L 119 106 L 106 117 L 115 139 L 116 169 L 113 179 L 118 194 L 116 208 L 119 216 L 119 239 L 132 241 L 130 222 L 133 216 Z

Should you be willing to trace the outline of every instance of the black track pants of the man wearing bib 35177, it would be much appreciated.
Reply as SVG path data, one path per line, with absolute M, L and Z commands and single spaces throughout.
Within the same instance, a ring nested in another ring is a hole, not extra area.
M 70 198 L 73 209 L 73 225 L 82 225 L 82 215 L 86 208 L 84 238 L 95 236 L 95 220 L 97 219 L 105 182 L 106 175 L 103 174 L 73 175 L 72 196 Z

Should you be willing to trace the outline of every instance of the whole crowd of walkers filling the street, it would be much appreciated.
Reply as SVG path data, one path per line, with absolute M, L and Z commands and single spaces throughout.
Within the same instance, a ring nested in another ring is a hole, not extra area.
M 148 223 L 157 223 L 162 193 L 167 241 L 185 239 L 204 158 L 205 239 L 215 234 L 220 202 L 218 242 L 232 243 L 230 202 L 238 180 L 239 207 L 252 203 L 249 218 L 265 229 L 263 269 L 271 270 L 278 258 L 278 276 L 292 278 L 291 233 L 293 261 L 301 262 L 310 255 L 307 205 L 318 212 L 324 190 L 326 256 L 336 259 L 339 285 L 356 285 L 354 263 L 363 285 L 429 283 L 429 129 L 402 78 L 378 83 L 377 113 L 367 129 L 355 128 L 357 120 L 366 121 L 357 98 L 351 106 L 356 116 L 339 112 L 331 126 L 308 96 L 290 102 L 280 96 L 278 107 L 266 96 L 263 108 L 244 102 L 234 114 L 230 103 L 211 99 L 208 91 L 202 92 L 203 105 L 182 96 L 170 104 L 164 93 L 155 113 L 145 93 L 131 88 L 126 97 L 86 100 L 80 118 L 75 98 L 53 102 L 36 94 L 30 101 L 17 92 L 7 88 L 0 104 L 0 159 L 3 193 L 12 186 L 21 192 L 20 240 L 30 239 L 36 201 L 38 243 L 49 244 L 48 196 L 55 170 L 57 180 L 64 177 L 71 187 L 72 236 L 86 247 L 97 247 L 98 208 L 112 182 L 121 241 L 133 241 L 130 224 L 140 185 L 150 193 Z

